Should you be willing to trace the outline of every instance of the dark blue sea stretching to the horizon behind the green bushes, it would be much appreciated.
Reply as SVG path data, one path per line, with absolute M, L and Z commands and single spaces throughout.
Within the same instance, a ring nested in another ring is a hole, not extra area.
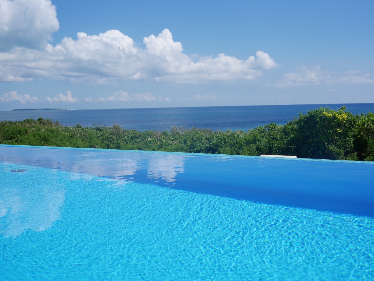
M 86 109 L 44 111 L 0 111 L 0 120 L 20 121 L 27 118 L 51 118 L 64 126 L 80 124 L 86 126 L 120 125 L 124 129 L 138 131 L 163 131 L 172 126 L 186 129 L 205 128 L 213 131 L 253 129 L 276 123 L 285 125 L 309 110 L 319 107 L 338 109 L 343 105 L 353 114 L 374 112 L 374 103 L 356 104 L 301 104 L 278 106 L 220 106 L 220 107 L 171 107 L 147 109 Z

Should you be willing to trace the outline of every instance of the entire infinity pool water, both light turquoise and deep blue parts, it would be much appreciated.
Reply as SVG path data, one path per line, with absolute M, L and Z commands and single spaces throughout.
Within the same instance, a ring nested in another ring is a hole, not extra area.
M 24 146 L 0 157 L 1 280 L 374 279 L 373 163 Z

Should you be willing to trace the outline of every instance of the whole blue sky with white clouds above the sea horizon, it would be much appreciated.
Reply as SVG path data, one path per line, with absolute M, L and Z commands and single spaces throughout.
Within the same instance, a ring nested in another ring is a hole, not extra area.
M 0 0 L 0 110 L 374 103 L 374 1 Z

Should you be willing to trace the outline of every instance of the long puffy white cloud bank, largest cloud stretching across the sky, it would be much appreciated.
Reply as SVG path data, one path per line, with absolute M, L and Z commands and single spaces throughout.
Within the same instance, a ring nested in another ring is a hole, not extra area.
M 49 1 L 43 3 L 48 4 Z M 50 7 L 55 11 L 53 5 Z M 56 28 L 45 30 L 45 37 Z M 3 34 L 4 42 L 11 37 L 14 29 L 15 26 L 10 26 L 9 32 Z M 29 31 L 25 28 L 25 32 Z M 48 77 L 95 85 L 116 80 L 204 83 L 252 80 L 262 76 L 264 70 L 277 66 L 274 59 L 262 51 L 246 60 L 225 54 L 216 57 L 188 56 L 183 53 L 182 44 L 174 42 L 168 29 L 157 36 L 145 37 L 145 48 L 136 45 L 133 39 L 118 30 L 98 35 L 79 32 L 76 39 L 65 37 L 55 46 L 45 43 L 44 37 L 34 39 L 34 43 L 37 41 L 46 47 L 32 49 L 28 44 L 13 44 L 22 48 L 9 49 L 9 45 L 8 49 L 0 49 L 0 81 Z

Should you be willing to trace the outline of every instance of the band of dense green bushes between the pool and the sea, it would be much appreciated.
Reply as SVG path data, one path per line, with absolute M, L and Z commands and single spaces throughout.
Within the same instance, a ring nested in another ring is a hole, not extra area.
M 247 132 L 177 127 L 139 132 L 116 124 L 65 127 L 50 119 L 26 119 L 0 122 L 0 144 L 374 161 L 374 114 L 319 108 L 284 126 L 270 123 Z

